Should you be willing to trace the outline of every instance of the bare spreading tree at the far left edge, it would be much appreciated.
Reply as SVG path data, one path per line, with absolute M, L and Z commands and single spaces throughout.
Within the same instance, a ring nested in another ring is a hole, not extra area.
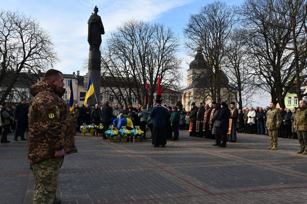
M 58 61 L 47 31 L 36 19 L 22 13 L 0 11 L 0 102 L 6 100 L 18 78 L 37 80 L 33 75 Z

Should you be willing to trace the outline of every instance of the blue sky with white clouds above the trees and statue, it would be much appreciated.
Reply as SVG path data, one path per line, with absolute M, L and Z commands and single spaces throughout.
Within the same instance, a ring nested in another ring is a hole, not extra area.
M 201 6 L 210 2 L 213 0 L 0 0 L 0 9 L 19 10 L 36 18 L 41 27 L 49 31 L 56 46 L 60 62 L 55 65 L 55 69 L 66 74 L 80 70 L 80 74 L 84 75 L 86 71 L 82 70 L 82 64 L 89 50 L 87 20 L 95 5 L 99 8 L 98 15 L 105 29 L 103 42 L 122 21 L 130 18 L 165 23 L 181 37 L 182 49 L 178 55 L 188 63 L 192 59 L 185 53 L 183 28 L 190 14 L 197 13 Z M 243 0 L 226 2 L 239 5 Z M 184 70 L 188 68 L 187 63 L 183 65 Z

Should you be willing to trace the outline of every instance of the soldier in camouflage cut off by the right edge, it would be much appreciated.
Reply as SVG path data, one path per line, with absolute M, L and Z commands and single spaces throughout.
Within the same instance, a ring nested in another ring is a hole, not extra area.
M 293 127 L 297 130 L 298 141 L 300 142 L 300 150 L 297 154 L 307 154 L 307 108 L 306 101 L 301 100 L 300 108 L 296 110 Z

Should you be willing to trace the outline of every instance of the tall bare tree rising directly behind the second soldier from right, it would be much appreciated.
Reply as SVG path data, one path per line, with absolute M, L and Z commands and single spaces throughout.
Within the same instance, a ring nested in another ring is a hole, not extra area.
M 276 16 L 281 8 L 280 0 L 271 4 L 270 0 L 245 0 L 241 16 L 249 43 L 250 73 L 255 76 L 255 84 L 271 95 L 272 102 L 285 107 L 284 98 L 293 86 L 293 51 L 285 47 L 291 44 L 291 19 Z

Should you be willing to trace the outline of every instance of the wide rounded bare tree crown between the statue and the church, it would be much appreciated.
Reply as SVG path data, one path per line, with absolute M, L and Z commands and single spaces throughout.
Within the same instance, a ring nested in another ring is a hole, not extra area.
M 143 101 L 144 84 L 150 86 L 150 104 L 161 76 L 164 89 L 180 90 L 181 62 L 177 57 L 179 37 L 164 24 L 127 20 L 111 33 L 102 51 L 102 78 L 111 93 L 127 105 L 132 96 Z

